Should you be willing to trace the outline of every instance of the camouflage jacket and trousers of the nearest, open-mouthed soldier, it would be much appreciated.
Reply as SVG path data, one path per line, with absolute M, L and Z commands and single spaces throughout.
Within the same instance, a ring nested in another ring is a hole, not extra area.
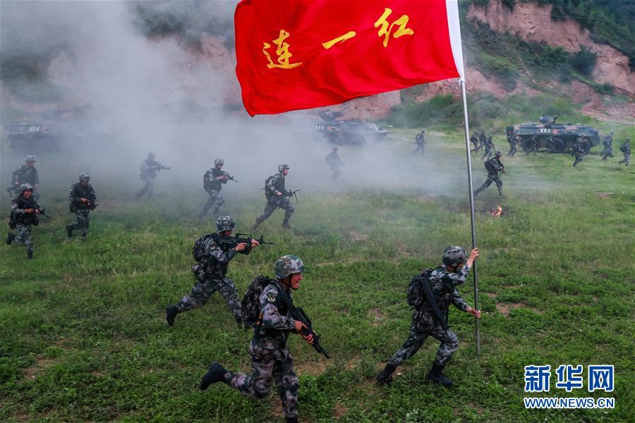
M 298 390 L 300 384 L 294 371 L 294 360 L 286 348 L 286 338 L 293 332 L 296 321 L 289 317 L 288 309 L 280 299 L 291 292 L 282 288 L 280 281 L 274 280 L 262 290 L 260 309 L 262 324 L 256 326 L 251 338 L 250 375 L 227 372 L 225 382 L 241 393 L 253 398 L 265 398 L 271 390 L 272 376 L 282 400 L 282 410 L 287 419 L 298 417 Z

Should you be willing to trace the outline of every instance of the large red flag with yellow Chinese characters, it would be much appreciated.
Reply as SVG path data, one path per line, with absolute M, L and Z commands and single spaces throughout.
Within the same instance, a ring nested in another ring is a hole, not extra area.
M 456 0 L 242 0 L 234 20 L 251 116 L 463 73 Z

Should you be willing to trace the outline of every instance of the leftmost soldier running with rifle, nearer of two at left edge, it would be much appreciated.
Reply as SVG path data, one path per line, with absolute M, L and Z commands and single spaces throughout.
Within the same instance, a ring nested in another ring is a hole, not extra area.
M 9 218 L 9 228 L 16 229 L 18 235 L 9 231 L 6 237 L 6 245 L 11 245 L 13 240 L 27 248 L 27 258 L 33 258 L 33 243 L 31 241 L 31 226 L 39 223 L 37 216 L 42 212 L 40 205 L 33 197 L 33 187 L 28 183 L 23 183 L 18 187 L 20 192 L 11 200 L 11 217 Z

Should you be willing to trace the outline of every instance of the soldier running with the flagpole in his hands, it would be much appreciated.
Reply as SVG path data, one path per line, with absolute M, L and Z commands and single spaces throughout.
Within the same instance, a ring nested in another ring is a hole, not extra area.
M 416 288 L 416 298 L 409 298 L 409 303 L 415 307 L 412 316 L 410 333 L 404 345 L 397 350 L 382 372 L 377 376 L 377 384 L 389 384 L 392 373 L 401 363 L 412 357 L 421 348 L 428 336 L 441 341 L 437 350 L 437 357 L 433 368 L 428 373 L 428 379 L 449 388 L 452 381 L 444 376 L 443 369 L 452 358 L 452 354 L 459 346 L 459 338 L 452 329 L 447 328 L 447 314 L 449 305 L 472 314 L 480 319 L 480 310 L 470 307 L 459 295 L 456 286 L 464 283 L 468 273 L 478 257 L 478 248 L 474 248 L 470 257 L 466 259 L 466 252 L 462 247 L 447 247 L 443 251 L 443 264 L 437 269 L 428 269 L 420 277 L 413 278 Z M 421 286 L 428 283 L 430 290 Z M 409 288 L 410 290 L 410 288 Z M 428 291 L 426 294 L 425 291 Z M 422 292 L 423 291 L 423 292 Z M 429 295 L 432 298 L 429 298 Z M 409 293 L 410 296 L 410 293 Z M 447 329 L 444 329 L 445 326 Z

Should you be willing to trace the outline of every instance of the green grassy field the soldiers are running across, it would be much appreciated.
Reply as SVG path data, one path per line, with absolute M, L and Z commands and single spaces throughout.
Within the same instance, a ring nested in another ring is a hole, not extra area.
M 396 133 L 395 148 L 405 157 L 415 131 Z M 429 138 L 428 154 L 462 178 L 463 145 L 440 133 Z M 477 356 L 473 319 L 452 309 L 461 341 L 447 367 L 452 390 L 424 380 L 438 345 L 432 339 L 397 370 L 392 386 L 373 381 L 408 333 L 410 276 L 439 264 L 444 246 L 470 243 L 465 188 L 445 195 L 424 188 L 303 190 L 293 232 L 279 231 L 276 212 L 261 226 L 276 245 L 236 257 L 229 276 L 242 295 L 253 276 L 272 275 L 280 255 L 299 255 L 306 264 L 295 301 L 313 318 L 332 360 L 291 339 L 301 421 L 632 421 L 635 166 L 617 160 L 600 161 L 598 148 L 576 168 L 568 154 L 504 160 L 507 214 L 480 213 L 498 204 L 495 185 L 476 202 L 482 350 Z M 485 170 L 475 162 L 478 186 Z M 35 228 L 35 259 L 27 262 L 21 247 L 0 249 L 0 420 L 279 421 L 275 393 L 258 401 L 224 384 L 197 389 L 211 360 L 249 368 L 250 333 L 236 329 L 220 295 L 179 315 L 173 327 L 165 322 L 165 305 L 193 285 L 193 241 L 212 231 L 211 219 L 192 217 L 204 199 L 188 202 L 171 189 L 134 202 L 131 189 L 118 184 L 95 182 L 102 212 L 92 214 L 85 242 L 66 239 L 70 183 L 63 183 L 43 198 L 53 218 Z M 247 231 L 262 198 L 228 192 L 223 211 Z M 473 304 L 471 278 L 459 290 Z M 528 364 L 552 367 L 552 390 L 542 396 L 608 396 L 615 409 L 526 410 Z M 555 389 L 560 364 L 583 364 L 585 387 Z M 586 391 L 589 364 L 615 365 L 614 392 Z

